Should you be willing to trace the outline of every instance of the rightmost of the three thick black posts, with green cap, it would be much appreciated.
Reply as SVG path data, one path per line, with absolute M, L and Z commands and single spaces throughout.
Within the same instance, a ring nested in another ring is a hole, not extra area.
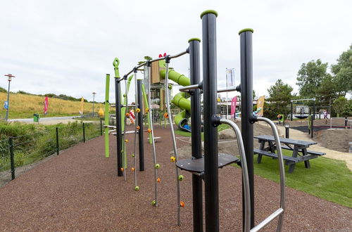
M 254 167 L 253 167 L 253 63 L 252 63 L 253 30 L 239 32 L 241 50 L 241 132 L 246 152 L 249 174 L 249 194 L 251 196 L 251 228 L 254 227 Z M 242 199 L 243 195 L 242 195 Z M 244 204 L 242 204 L 244 219 Z

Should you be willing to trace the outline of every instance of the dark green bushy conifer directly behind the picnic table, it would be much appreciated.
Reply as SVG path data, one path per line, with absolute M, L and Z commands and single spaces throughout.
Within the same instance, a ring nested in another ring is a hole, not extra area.
M 264 107 L 265 116 L 272 118 L 278 114 L 287 115 L 289 113 L 287 106 L 292 99 L 293 90 L 289 84 L 284 84 L 282 79 L 278 79 L 274 85 L 270 86 L 268 89 L 270 104 Z

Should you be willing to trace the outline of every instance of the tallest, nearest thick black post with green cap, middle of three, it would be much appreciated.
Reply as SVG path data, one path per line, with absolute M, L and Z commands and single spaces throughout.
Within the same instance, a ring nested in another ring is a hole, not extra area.
M 203 103 L 204 103 L 204 185 L 206 231 L 219 231 L 218 131 L 216 80 L 216 11 L 201 13 L 203 37 Z

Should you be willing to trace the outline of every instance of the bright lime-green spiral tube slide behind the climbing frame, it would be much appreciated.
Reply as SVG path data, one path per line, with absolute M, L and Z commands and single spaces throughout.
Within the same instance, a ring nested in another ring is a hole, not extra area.
M 165 70 L 160 71 L 161 78 L 165 79 L 165 73 Z M 168 79 L 182 86 L 189 86 L 191 84 L 191 80 L 188 77 L 185 77 L 175 70 L 169 70 Z M 191 115 L 191 101 L 187 98 L 189 98 L 188 94 L 180 92 L 172 98 L 172 103 L 183 110 L 175 116 L 175 124 L 182 131 L 191 132 L 191 128 L 188 124 L 188 118 Z

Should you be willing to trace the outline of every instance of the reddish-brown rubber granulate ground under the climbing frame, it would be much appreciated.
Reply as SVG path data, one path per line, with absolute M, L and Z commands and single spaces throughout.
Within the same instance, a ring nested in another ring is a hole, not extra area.
M 110 140 L 111 157 L 106 158 L 100 136 L 65 150 L 0 188 L 0 231 L 192 231 L 191 175 L 180 173 L 185 176 L 180 185 L 186 206 L 179 227 L 175 166 L 168 155 L 170 131 L 157 128 L 155 136 L 162 137 L 156 143 L 161 165 L 158 207 L 151 206 L 151 146 L 144 143 L 146 171 L 137 172 L 140 190 L 134 191 L 130 168 L 127 181 L 116 176 L 115 137 Z M 132 151 L 133 135 L 129 139 Z M 219 176 L 220 231 L 241 231 L 240 169 L 225 167 Z M 277 183 L 256 176 L 256 223 L 276 210 L 278 191 Z M 274 231 L 275 222 L 264 231 Z M 283 231 L 352 231 L 351 224 L 351 208 L 287 188 Z

